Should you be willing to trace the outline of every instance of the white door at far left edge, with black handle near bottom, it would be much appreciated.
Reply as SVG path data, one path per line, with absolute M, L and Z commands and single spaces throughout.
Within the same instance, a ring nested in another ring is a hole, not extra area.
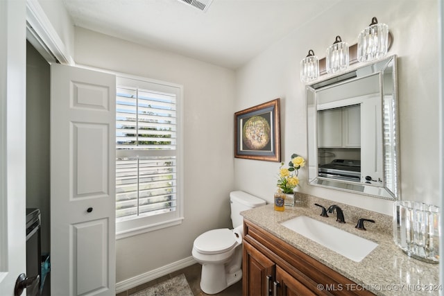
M 0 1 L 0 291 L 26 272 L 26 13 Z

